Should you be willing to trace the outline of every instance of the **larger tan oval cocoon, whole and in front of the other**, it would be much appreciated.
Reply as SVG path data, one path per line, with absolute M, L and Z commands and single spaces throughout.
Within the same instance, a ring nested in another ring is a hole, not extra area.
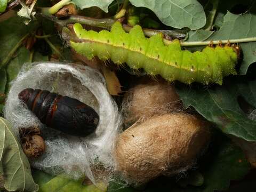
M 202 119 L 184 113 L 154 116 L 119 135 L 117 170 L 137 184 L 185 171 L 209 140 L 209 126 Z

